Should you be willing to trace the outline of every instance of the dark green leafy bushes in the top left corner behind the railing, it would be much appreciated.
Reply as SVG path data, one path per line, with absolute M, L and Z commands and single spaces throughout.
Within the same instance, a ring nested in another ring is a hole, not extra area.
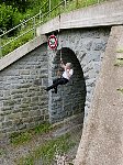
M 52 9 L 59 2 L 60 0 L 51 0 Z M 0 0 L 0 34 L 14 28 L 23 19 L 35 15 L 44 3 L 43 13 L 49 10 L 47 0 Z

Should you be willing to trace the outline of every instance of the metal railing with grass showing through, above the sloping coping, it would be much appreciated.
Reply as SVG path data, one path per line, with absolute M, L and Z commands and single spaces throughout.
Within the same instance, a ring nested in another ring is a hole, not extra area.
M 105 1 L 105 0 L 93 0 L 94 3 L 100 3 L 102 1 Z M 52 8 L 52 0 L 47 0 L 41 7 L 40 12 L 36 15 L 34 15 L 27 20 L 24 20 L 19 25 L 16 25 L 13 29 L 1 34 L 0 35 L 0 58 L 3 55 L 8 54 L 9 52 L 11 52 L 14 48 L 20 46 L 20 44 L 19 45 L 13 44 L 13 47 L 9 46 L 14 41 L 21 38 L 22 36 L 25 36 L 27 33 L 30 33 L 30 36 L 24 42 L 27 42 L 31 38 L 35 37 L 36 36 L 36 26 L 45 23 L 51 18 L 54 18 L 54 16 L 60 14 L 62 12 L 64 12 L 66 7 L 68 7 L 70 4 L 70 2 L 72 2 L 72 0 L 60 0 L 60 2 L 57 6 Z M 90 2 L 90 0 L 76 0 L 76 8 L 80 7 L 80 4 L 82 4 L 81 7 L 87 7 L 89 4 L 89 2 Z M 45 12 L 43 12 L 44 8 L 45 8 Z M 55 11 L 55 10 L 56 10 L 56 13 L 53 13 L 53 11 Z M 11 34 L 13 31 L 19 31 L 18 35 L 8 37 L 9 34 Z M 24 42 L 22 42 L 21 44 L 24 44 Z M 7 50 L 4 50 L 4 47 L 7 47 Z

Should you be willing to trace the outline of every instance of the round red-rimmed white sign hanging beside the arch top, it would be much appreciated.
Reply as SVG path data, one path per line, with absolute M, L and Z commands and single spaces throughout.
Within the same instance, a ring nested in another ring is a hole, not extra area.
M 51 35 L 48 37 L 48 46 L 51 50 L 56 50 L 57 47 L 57 37 L 55 35 Z

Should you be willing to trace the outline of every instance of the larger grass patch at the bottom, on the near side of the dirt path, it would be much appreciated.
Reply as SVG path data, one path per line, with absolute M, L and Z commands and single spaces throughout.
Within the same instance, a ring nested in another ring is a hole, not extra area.
M 55 156 L 66 154 L 75 143 L 70 141 L 70 135 L 66 134 L 60 138 L 45 142 L 35 151 L 25 157 L 16 161 L 18 165 L 34 165 L 36 160 L 41 160 L 43 165 L 52 165 Z

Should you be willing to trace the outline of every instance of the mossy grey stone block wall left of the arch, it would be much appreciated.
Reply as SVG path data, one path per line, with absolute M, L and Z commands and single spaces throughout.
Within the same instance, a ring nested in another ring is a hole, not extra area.
M 46 44 L 0 72 L 0 131 L 20 131 L 48 119 Z M 40 79 L 41 85 L 34 85 Z

